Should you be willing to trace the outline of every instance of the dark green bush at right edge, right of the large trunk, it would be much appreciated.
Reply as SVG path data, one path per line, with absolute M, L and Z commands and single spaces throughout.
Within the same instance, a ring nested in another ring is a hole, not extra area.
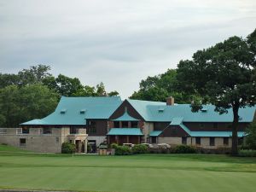
M 245 141 L 247 147 L 256 150 L 256 122 L 251 123 L 246 129 Z

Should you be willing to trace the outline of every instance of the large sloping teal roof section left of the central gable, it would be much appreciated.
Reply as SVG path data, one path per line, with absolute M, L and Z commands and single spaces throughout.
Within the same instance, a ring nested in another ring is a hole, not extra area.
M 121 103 L 119 96 L 62 96 L 54 113 L 20 125 L 85 125 L 85 119 L 108 119 Z

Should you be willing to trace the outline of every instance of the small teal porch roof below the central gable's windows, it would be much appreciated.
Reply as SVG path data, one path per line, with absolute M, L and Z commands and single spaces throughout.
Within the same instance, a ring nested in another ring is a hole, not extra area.
M 108 136 L 143 136 L 139 128 L 112 128 Z

